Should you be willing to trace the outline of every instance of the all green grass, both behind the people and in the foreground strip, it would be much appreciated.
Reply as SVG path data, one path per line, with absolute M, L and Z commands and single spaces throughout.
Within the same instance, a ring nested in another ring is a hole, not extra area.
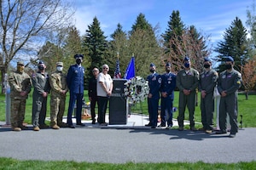
M 175 92 L 174 106 L 177 107 L 178 92 Z M 198 94 L 200 96 L 200 94 Z M 84 99 L 88 101 L 87 92 L 84 91 Z M 67 96 L 66 114 L 68 106 L 69 96 Z M 5 96 L 0 95 L 0 121 L 5 121 Z M 256 95 L 249 95 L 249 99 L 246 100 L 244 94 L 238 96 L 238 109 L 239 115 L 243 116 L 243 127 L 256 127 Z M 49 103 L 49 99 L 48 99 Z M 200 104 L 200 98 L 198 101 Z M 137 104 L 131 108 L 131 112 L 148 114 L 147 102 L 144 101 L 141 104 Z M 186 111 L 187 112 L 187 111 Z M 49 105 L 47 116 L 49 116 Z M 186 113 L 186 119 L 188 119 L 188 113 Z M 26 118 L 25 122 L 31 123 L 32 117 L 32 94 L 29 95 L 26 103 Z M 177 118 L 177 111 L 173 115 Z M 215 120 L 215 118 L 214 118 Z M 200 106 L 195 107 L 195 121 L 201 122 Z M 240 116 L 238 121 L 240 121 Z M 200 126 L 200 125 L 197 125 Z M 0 150 L 1 151 L 1 150 Z M 255 169 L 256 161 L 250 162 L 237 162 L 231 164 L 224 163 L 204 163 L 201 161 L 190 162 L 175 162 L 175 163 L 133 163 L 127 162 L 125 164 L 111 164 L 111 163 L 89 163 L 89 162 L 76 162 L 76 161 L 18 161 L 12 158 L 0 157 L 0 169 Z

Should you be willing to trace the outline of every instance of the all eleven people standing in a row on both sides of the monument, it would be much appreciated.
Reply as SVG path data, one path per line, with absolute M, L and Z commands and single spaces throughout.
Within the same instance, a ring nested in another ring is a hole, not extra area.
M 11 88 L 11 127 L 14 131 L 26 129 L 23 121 L 25 117 L 26 99 L 33 90 L 32 103 L 32 126 L 34 131 L 41 128 L 48 128 L 45 124 L 46 104 L 49 94 L 50 98 L 50 127 L 59 129 L 60 127 L 73 126 L 73 110 L 76 105 L 76 124 L 85 126 L 81 122 L 82 102 L 84 98 L 84 67 L 81 65 L 84 56 L 74 55 L 76 64 L 71 65 L 67 75 L 62 72 L 63 63 L 56 63 L 56 71 L 49 74 L 45 72 L 46 65 L 43 61 L 38 62 L 38 72 L 29 77 L 24 72 L 24 63 L 17 63 L 17 70 L 10 73 L 9 85 Z M 214 88 L 218 88 L 221 95 L 219 105 L 219 126 L 217 133 L 227 133 L 226 116 L 230 116 L 230 137 L 235 137 L 238 132 L 237 124 L 237 90 L 241 87 L 241 73 L 234 70 L 235 62 L 232 57 L 227 57 L 225 61 L 226 70 L 218 73 L 212 70 L 212 61 L 204 59 L 204 70 L 199 74 L 191 67 L 189 57 L 183 59 L 183 70 L 177 75 L 171 71 L 172 65 L 166 63 L 166 73 L 160 75 L 156 72 L 156 66 L 149 65 L 150 75 L 147 77 L 149 85 L 148 113 L 149 122 L 146 126 L 151 128 L 166 127 L 172 128 L 173 99 L 174 91 L 179 89 L 178 100 L 178 130 L 183 131 L 184 113 L 186 108 L 189 111 L 190 130 L 195 131 L 195 99 L 197 90 L 201 92 L 201 122 L 202 129 L 206 133 L 213 130 L 214 112 Z M 93 68 L 89 81 L 88 95 L 90 99 L 90 112 L 92 124 L 96 121 L 106 126 L 106 111 L 108 99 L 112 94 L 113 80 L 108 74 L 108 65 L 102 65 L 102 72 L 98 68 Z M 67 123 L 62 122 L 65 111 L 66 95 L 70 93 L 69 106 L 67 111 Z M 160 100 L 160 118 L 158 125 L 158 110 Z M 96 120 L 96 104 L 98 105 L 98 116 Z M 166 125 L 167 123 L 167 125 Z

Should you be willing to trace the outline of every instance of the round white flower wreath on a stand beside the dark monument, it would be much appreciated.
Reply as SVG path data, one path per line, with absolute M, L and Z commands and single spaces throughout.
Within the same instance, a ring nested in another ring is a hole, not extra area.
M 136 104 L 144 101 L 148 97 L 148 81 L 145 81 L 143 77 L 133 77 L 131 80 L 125 82 L 124 90 L 129 103 Z

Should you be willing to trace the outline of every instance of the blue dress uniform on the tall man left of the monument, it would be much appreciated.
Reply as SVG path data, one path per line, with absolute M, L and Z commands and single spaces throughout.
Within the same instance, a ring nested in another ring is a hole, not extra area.
M 71 65 L 67 71 L 67 87 L 70 93 L 67 125 L 73 126 L 72 113 L 75 102 L 77 101 L 76 122 L 81 124 L 82 100 L 84 97 L 84 67 L 79 65 Z

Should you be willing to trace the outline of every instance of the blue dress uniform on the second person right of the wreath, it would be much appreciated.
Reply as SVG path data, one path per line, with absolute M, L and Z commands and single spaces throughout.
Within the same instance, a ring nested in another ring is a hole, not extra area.
M 174 99 L 174 89 L 176 88 L 176 75 L 172 72 L 165 73 L 162 76 L 160 92 L 166 92 L 167 97 L 161 96 L 161 126 L 172 127 L 172 106 Z M 166 115 L 167 113 L 167 115 Z

